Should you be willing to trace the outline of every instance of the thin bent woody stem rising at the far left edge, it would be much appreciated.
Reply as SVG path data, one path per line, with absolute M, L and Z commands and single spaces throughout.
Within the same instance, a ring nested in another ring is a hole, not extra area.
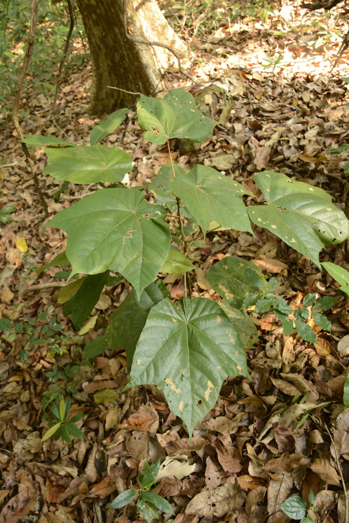
M 31 171 L 31 174 L 32 174 L 32 177 L 34 180 L 35 188 L 36 188 L 38 196 L 40 198 L 41 205 L 45 211 L 45 216 L 48 217 L 49 212 L 48 212 L 48 208 L 47 208 L 47 203 L 46 203 L 46 200 L 42 194 L 42 191 L 41 191 L 41 188 L 39 185 L 38 175 L 35 170 L 34 162 L 31 159 L 27 145 L 23 141 L 24 135 L 22 133 L 22 130 L 21 130 L 19 122 L 18 122 L 18 109 L 19 109 L 20 95 L 22 92 L 22 87 L 23 87 L 24 80 L 25 80 L 25 77 L 27 74 L 28 65 L 29 65 L 30 58 L 31 58 L 31 53 L 33 51 L 33 47 L 34 47 L 34 43 L 35 43 L 35 34 L 36 34 L 36 26 L 37 26 L 37 18 L 38 18 L 38 0 L 31 0 L 30 10 L 31 10 L 31 16 L 30 16 L 30 27 L 29 27 L 29 33 L 28 33 L 28 45 L 27 45 L 26 54 L 24 56 L 22 69 L 19 73 L 18 82 L 17 82 L 16 89 L 15 89 L 15 101 L 14 101 L 14 105 L 13 105 L 12 120 L 13 120 L 15 129 L 17 131 L 22 150 L 23 150 L 24 154 L 26 155 L 26 158 L 27 158 L 27 161 L 28 161 L 28 164 L 30 167 L 30 171 Z

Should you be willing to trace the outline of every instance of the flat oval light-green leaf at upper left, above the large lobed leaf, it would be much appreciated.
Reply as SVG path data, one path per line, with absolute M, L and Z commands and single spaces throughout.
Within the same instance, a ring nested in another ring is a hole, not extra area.
M 74 184 L 121 181 L 132 169 L 128 153 L 107 145 L 49 147 L 46 154 L 50 163 L 44 172 Z

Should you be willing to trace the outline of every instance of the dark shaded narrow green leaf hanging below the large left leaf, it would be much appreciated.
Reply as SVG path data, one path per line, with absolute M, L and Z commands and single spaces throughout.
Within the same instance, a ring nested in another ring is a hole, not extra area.
M 63 310 L 64 315 L 66 316 L 72 313 L 72 323 L 76 329 L 80 329 L 83 326 L 85 320 L 87 320 L 93 311 L 94 306 L 100 298 L 100 293 L 107 283 L 108 275 L 109 270 L 92 276 L 85 276 L 80 288 L 78 288 L 73 297 L 65 303 Z

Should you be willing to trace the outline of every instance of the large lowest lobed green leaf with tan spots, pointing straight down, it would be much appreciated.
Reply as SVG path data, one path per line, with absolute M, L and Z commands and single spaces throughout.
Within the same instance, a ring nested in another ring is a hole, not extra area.
M 248 376 L 238 334 L 220 306 L 206 298 L 168 298 L 150 310 L 133 357 L 130 382 L 164 390 L 191 437 L 215 405 L 227 376 Z

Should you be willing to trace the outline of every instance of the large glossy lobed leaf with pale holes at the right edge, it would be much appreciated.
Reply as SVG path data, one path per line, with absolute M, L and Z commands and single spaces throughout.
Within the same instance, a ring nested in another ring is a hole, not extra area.
M 322 189 L 273 171 L 257 174 L 254 181 L 267 204 L 247 207 L 253 223 L 276 234 L 319 268 L 323 243 L 333 245 L 349 236 L 345 214 Z

